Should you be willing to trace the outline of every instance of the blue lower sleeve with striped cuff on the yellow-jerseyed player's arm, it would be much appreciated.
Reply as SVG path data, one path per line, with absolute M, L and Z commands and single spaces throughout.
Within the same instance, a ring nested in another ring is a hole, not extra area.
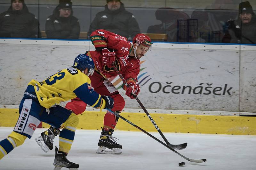
M 101 96 L 93 89 L 88 89 L 88 84 L 84 83 L 73 91 L 84 103 L 94 108 L 100 108 L 102 105 Z

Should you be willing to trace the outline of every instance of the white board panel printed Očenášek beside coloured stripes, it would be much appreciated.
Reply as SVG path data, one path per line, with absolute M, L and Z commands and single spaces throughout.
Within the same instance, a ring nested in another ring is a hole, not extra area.
M 156 48 L 141 63 L 138 97 L 146 108 L 239 110 L 238 50 Z M 126 101 L 128 108 L 140 107 Z

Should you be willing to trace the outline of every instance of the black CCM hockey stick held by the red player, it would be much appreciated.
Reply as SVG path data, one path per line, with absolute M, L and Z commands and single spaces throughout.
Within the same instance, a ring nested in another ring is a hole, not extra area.
M 117 70 L 116 66 L 114 64 L 112 64 L 112 67 L 115 69 L 116 73 L 119 75 L 119 77 L 121 78 L 121 80 L 124 82 L 126 87 L 129 87 L 129 85 L 127 84 L 127 81 L 124 79 L 123 75 Z M 164 134 L 162 133 L 162 131 L 159 129 L 159 127 L 157 126 L 156 122 L 153 120 L 153 118 L 149 115 L 148 111 L 146 110 L 146 108 L 144 107 L 144 105 L 140 102 L 139 98 L 134 95 L 135 99 L 137 100 L 137 102 L 140 104 L 140 107 L 144 110 L 144 112 L 146 113 L 146 115 L 148 116 L 148 118 L 150 119 L 150 121 L 152 122 L 152 124 L 155 126 L 156 130 L 160 133 L 160 135 L 162 136 L 162 138 L 164 139 L 165 143 L 170 146 L 173 149 L 177 149 L 177 150 L 181 150 L 181 149 L 185 149 L 188 145 L 188 143 L 184 143 L 184 144 L 180 144 L 180 145 L 172 145 L 170 144 L 170 142 L 168 142 L 168 140 L 164 137 Z

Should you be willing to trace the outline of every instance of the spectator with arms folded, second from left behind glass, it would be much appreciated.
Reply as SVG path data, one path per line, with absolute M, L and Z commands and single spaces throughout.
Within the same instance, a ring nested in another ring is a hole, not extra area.
M 73 16 L 72 2 L 60 0 L 53 14 L 46 19 L 45 33 L 49 39 L 78 39 L 79 20 Z

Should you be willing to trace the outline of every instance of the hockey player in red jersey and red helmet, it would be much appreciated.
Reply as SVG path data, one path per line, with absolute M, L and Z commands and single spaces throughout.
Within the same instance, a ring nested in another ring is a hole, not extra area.
M 95 65 L 94 74 L 89 76 L 91 85 L 94 91 L 100 95 L 111 96 L 115 100 L 111 110 L 121 113 L 125 105 L 124 98 L 108 81 L 108 78 L 117 76 L 112 63 L 114 62 L 115 67 L 130 86 L 127 88 L 123 85 L 123 89 L 126 90 L 125 94 L 133 99 L 133 94 L 137 96 L 140 92 L 140 86 L 136 83 L 140 72 L 140 58 L 150 49 L 151 39 L 144 34 L 137 34 L 131 44 L 125 37 L 106 30 L 96 30 L 92 32 L 90 38 L 96 48 L 96 51 L 85 53 L 93 59 Z M 75 98 L 67 103 L 65 108 L 78 115 L 84 112 L 86 104 L 79 98 Z M 112 137 L 117 121 L 118 117 L 107 111 L 104 116 L 97 153 L 120 154 L 122 152 L 122 145 L 117 144 L 116 138 Z M 107 151 L 106 148 L 112 151 Z

